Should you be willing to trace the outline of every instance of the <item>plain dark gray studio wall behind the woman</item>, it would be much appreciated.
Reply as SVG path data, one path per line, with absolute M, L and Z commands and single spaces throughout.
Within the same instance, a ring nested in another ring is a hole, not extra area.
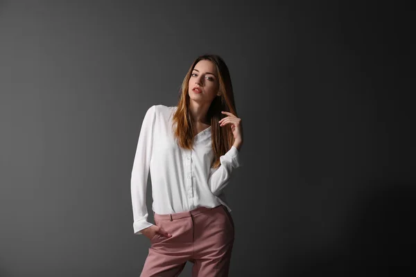
M 230 276 L 399 276 L 414 44 L 395 3 L 0 1 L 0 276 L 139 276 L 141 123 L 202 53 L 227 62 L 244 127 Z

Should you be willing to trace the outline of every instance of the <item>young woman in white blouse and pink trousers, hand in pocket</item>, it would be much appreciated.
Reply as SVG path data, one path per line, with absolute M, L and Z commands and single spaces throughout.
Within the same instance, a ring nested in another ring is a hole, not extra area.
M 227 65 L 201 55 L 182 83 L 176 107 L 153 105 L 141 125 L 131 176 L 133 229 L 150 240 L 141 276 L 227 276 L 234 222 L 223 188 L 239 158 L 237 117 Z M 147 221 L 150 170 L 155 224 Z

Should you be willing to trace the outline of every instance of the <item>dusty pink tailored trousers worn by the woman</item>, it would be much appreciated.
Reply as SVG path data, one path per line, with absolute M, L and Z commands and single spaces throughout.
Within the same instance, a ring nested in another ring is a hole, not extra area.
M 187 261 L 193 262 L 193 277 L 228 276 L 234 222 L 227 207 L 154 215 L 155 225 L 172 236 L 156 234 L 150 240 L 141 277 L 179 276 Z

